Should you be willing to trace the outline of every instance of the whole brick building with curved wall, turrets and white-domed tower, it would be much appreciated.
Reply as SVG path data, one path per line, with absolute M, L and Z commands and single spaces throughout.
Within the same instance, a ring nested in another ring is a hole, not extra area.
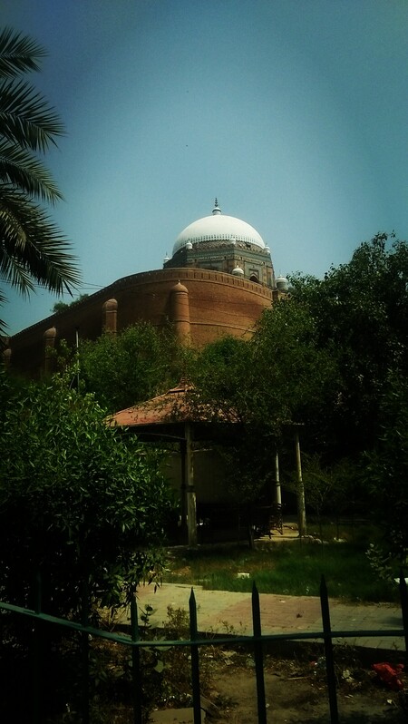
M 286 279 L 275 279 L 270 250 L 247 222 L 221 213 L 189 224 L 163 269 L 132 274 L 9 338 L 6 363 L 38 377 L 50 350 L 77 336 L 95 339 L 139 321 L 172 326 L 180 340 L 203 345 L 225 335 L 248 337 Z

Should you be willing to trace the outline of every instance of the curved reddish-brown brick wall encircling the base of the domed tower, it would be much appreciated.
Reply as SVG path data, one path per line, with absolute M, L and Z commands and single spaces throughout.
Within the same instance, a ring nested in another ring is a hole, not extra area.
M 248 337 L 272 290 L 231 274 L 207 269 L 160 269 L 118 279 L 72 308 L 53 314 L 10 338 L 11 366 L 37 377 L 44 369 L 44 334 L 56 329 L 59 340 L 73 345 L 80 338 L 96 339 L 103 331 L 103 305 L 117 301 L 117 330 L 138 321 L 158 328 L 171 324 L 171 289 L 180 281 L 188 290 L 190 338 L 201 346 L 226 335 Z

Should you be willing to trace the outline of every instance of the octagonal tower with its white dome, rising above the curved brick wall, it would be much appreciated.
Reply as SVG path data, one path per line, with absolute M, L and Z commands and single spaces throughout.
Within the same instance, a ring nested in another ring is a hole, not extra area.
M 193 221 L 177 237 L 164 269 L 211 269 L 275 289 L 270 249 L 247 221 L 224 215 L 217 199 L 212 214 Z

